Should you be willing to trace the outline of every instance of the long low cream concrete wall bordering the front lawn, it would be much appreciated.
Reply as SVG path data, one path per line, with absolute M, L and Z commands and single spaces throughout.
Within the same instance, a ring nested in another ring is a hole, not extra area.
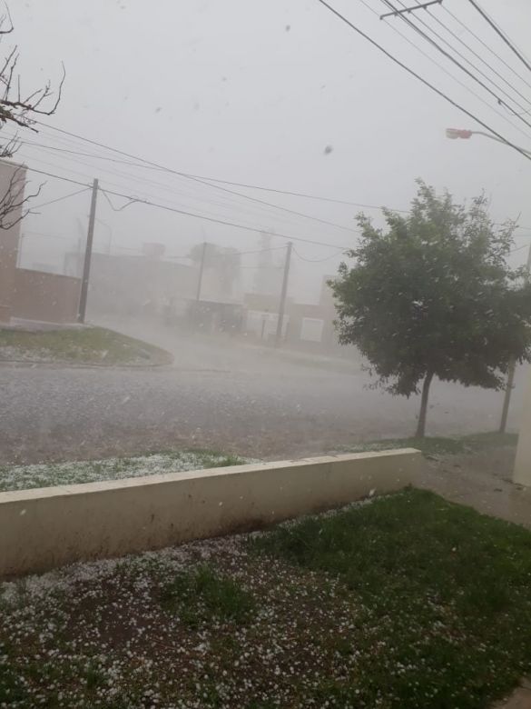
M 413 483 L 418 451 L 349 454 L 0 494 L 0 577 L 230 534 Z

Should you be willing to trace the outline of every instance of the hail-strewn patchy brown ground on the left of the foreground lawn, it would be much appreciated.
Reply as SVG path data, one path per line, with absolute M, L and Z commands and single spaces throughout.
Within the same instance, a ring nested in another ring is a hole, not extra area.
M 356 604 L 256 536 L 0 584 L 0 707 L 338 705 L 320 697 L 356 664 Z

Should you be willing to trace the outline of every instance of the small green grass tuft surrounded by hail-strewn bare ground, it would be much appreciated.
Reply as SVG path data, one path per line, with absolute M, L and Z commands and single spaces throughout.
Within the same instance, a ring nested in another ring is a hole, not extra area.
M 244 623 L 255 610 L 252 595 L 241 584 L 206 564 L 177 574 L 162 587 L 160 599 L 163 608 L 192 627 L 216 618 Z

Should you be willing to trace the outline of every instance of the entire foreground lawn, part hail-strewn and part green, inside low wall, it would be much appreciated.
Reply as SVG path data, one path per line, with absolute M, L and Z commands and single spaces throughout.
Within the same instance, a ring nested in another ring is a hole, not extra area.
M 0 604 L 13 709 L 487 709 L 531 670 L 531 534 L 409 490 Z

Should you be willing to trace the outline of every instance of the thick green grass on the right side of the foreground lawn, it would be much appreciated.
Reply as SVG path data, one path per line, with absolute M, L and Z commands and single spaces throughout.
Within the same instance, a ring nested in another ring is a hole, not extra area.
M 261 553 L 359 599 L 356 674 L 317 699 L 485 709 L 531 670 L 531 534 L 416 490 L 281 525 Z M 382 702 L 383 698 L 383 702 Z

